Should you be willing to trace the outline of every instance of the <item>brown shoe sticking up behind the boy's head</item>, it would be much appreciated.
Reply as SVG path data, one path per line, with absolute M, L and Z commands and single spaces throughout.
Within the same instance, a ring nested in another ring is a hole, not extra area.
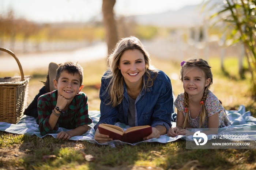
M 48 75 L 45 82 L 45 90 L 46 92 L 52 92 L 53 90 L 56 90 L 53 85 L 53 80 L 56 77 L 56 71 L 58 69 L 59 65 L 51 62 L 48 67 Z

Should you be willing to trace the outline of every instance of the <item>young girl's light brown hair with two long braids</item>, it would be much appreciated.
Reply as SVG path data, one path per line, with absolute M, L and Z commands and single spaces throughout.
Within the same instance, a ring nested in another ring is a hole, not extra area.
M 208 65 L 208 62 L 203 59 L 200 59 L 200 58 L 199 59 L 189 59 L 187 62 L 184 63 L 184 65 L 182 65 L 181 70 L 180 70 L 180 75 L 181 75 L 180 79 L 182 82 L 183 82 L 185 70 L 187 70 L 188 68 L 192 68 L 192 67 L 197 67 L 197 68 L 201 69 L 203 72 L 203 76 L 205 77 L 205 80 L 207 80 L 208 78 L 211 79 L 210 83 L 204 88 L 204 94 L 202 97 L 202 101 L 205 103 L 208 89 L 209 89 L 210 85 L 212 84 L 211 67 Z M 188 93 L 186 93 L 186 92 L 184 92 L 184 106 L 187 109 L 189 108 Z M 206 117 L 206 110 L 205 110 L 204 105 L 202 105 L 202 109 L 200 112 L 199 128 L 202 127 L 205 117 Z M 188 127 L 188 118 L 189 118 L 189 116 L 188 116 L 188 112 L 187 112 L 186 116 L 185 116 L 184 123 L 182 125 L 182 128 Z

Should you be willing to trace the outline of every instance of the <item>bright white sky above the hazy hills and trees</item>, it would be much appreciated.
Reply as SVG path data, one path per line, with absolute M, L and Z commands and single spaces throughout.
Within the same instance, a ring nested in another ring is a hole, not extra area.
M 178 10 L 204 0 L 116 0 L 116 15 L 143 15 Z M 0 14 L 10 9 L 17 18 L 34 22 L 87 22 L 100 18 L 102 0 L 0 0 Z

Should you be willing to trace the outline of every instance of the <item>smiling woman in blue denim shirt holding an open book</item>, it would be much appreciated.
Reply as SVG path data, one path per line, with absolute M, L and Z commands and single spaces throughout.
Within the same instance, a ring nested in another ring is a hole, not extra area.
M 109 70 L 101 79 L 101 117 L 94 126 L 98 143 L 111 141 L 98 125 L 118 121 L 130 126 L 151 125 L 144 140 L 159 138 L 172 126 L 173 95 L 170 78 L 150 65 L 150 58 L 134 36 L 120 40 L 108 59 Z

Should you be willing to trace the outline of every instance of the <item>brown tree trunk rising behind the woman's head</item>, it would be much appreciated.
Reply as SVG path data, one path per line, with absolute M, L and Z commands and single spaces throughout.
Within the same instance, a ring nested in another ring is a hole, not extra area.
M 108 54 L 111 53 L 118 41 L 116 20 L 114 19 L 113 7 L 116 0 L 102 0 L 103 23 L 106 30 Z

